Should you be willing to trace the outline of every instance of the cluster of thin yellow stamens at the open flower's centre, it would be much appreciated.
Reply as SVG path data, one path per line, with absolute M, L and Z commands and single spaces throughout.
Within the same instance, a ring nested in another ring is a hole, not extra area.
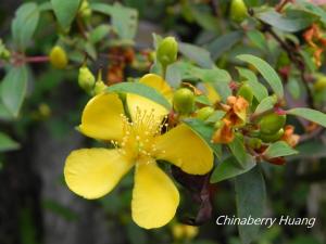
M 112 144 L 123 155 L 134 159 L 140 157 L 151 157 L 155 155 L 155 138 L 163 129 L 167 129 L 167 117 L 158 117 L 154 111 L 142 111 L 137 107 L 133 121 L 121 114 L 123 120 L 123 138 L 121 141 L 112 141 Z

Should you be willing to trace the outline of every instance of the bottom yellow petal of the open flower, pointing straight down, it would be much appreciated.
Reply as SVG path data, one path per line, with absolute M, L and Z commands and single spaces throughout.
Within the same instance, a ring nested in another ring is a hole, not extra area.
M 146 229 L 165 226 L 179 204 L 179 193 L 173 181 L 152 158 L 149 160 L 136 166 L 131 201 L 133 219 Z

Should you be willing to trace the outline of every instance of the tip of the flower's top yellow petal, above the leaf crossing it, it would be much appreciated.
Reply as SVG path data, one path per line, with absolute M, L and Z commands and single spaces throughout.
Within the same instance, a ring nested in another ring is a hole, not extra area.
M 172 102 L 172 97 L 173 97 L 172 88 L 161 76 L 154 74 L 148 74 L 142 76 L 139 82 L 154 88 L 156 91 L 163 94 L 167 101 Z

